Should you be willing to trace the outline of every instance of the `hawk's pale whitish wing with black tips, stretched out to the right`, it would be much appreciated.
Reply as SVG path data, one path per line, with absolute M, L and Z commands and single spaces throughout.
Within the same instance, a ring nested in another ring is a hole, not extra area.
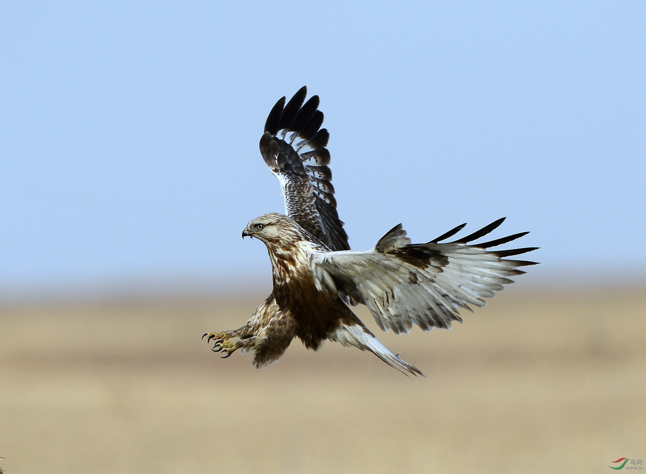
M 467 245 L 497 228 L 504 219 L 444 244 L 438 242 L 459 232 L 465 224 L 426 244 L 411 244 L 399 224 L 373 250 L 316 253 L 313 267 L 317 285 L 319 290 L 326 285 L 366 304 L 384 331 L 391 328 L 395 333 L 408 333 L 413 324 L 424 331 L 448 329 L 452 321 L 462 321 L 459 308 L 485 306 L 483 298 L 493 297 L 494 291 L 512 283 L 508 277 L 525 273 L 517 267 L 535 264 L 503 257 L 537 247 L 486 250 L 528 232 Z

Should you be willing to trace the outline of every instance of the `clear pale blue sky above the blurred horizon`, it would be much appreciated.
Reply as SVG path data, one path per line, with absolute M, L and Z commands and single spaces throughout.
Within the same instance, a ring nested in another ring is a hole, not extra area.
M 646 269 L 641 2 L 0 6 L 0 288 L 267 275 L 258 153 L 306 84 L 353 248 L 508 216 L 549 272 Z M 547 273 L 545 273 L 547 272 Z M 579 273 L 580 273 L 579 272 Z

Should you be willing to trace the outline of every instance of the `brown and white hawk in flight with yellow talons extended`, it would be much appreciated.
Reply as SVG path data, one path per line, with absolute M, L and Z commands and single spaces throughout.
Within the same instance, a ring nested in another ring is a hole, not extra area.
M 256 237 L 269 252 L 273 291 L 249 321 L 236 330 L 203 335 L 214 351 L 229 357 L 253 351 L 256 368 L 280 358 L 294 337 L 317 350 L 328 341 L 367 350 L 402 373 L 421 371 L 388 350 L 350 306 L 365 304 L 384 331 L 408 333 L 448 329 L 462 322 L 458 310 L 485 306 L 484 298 L 525 273 L 520 266 L 535 262 L 505 259 L 536 250 L 488 250 L 527 232 L 473 243 L 497 228 L 498 219 L 451 242 L 461 224 L 425 244 L 413 244 L 401 224 L 371 250 L 350 250 L 337 213 L 331 183 L 329 133 L 320 128 L 323 114 L 318 96 L 305 102 L 301 88 L 285 104 L 282 97 L 269 112 L 260 138 L 260 154 L 278 178 L 286 215 L 268 213 L 253 219 L 242 237 Z

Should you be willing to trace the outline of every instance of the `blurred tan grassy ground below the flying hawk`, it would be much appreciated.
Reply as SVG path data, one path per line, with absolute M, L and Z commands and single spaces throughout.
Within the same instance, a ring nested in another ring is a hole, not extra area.
M 295 341 L 256 371 L 200 341 L 262 296 L 3 306 L 0 466 L 607 473 L 646 459 L 644 288 L 512 287 L 450 331 L 380 333 L 428 375 L 414 380 L 334 344 Z

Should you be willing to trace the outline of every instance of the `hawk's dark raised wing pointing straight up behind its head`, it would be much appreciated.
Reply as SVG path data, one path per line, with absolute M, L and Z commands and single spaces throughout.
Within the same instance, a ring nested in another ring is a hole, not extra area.
M 287 105 L 285 97 L 276 102 L 260 139 L 260 153 L 280 181 L 287 215 L 331 250 L 349 250 L 328 168 L 329 133 L 320 128 L 318 95 L 304 103 L 306 95 L 303 86 Z

